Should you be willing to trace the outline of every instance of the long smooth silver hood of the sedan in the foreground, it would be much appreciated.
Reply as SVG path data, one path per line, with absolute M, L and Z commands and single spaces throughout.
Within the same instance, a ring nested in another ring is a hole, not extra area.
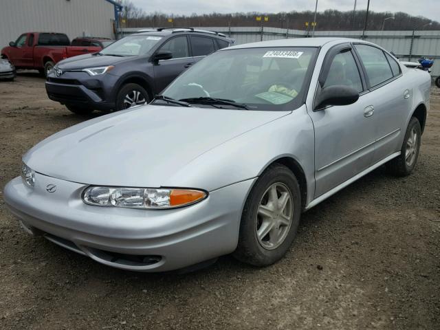
M 287 113 L 147 105 L 58 132 L 23 161 L 83 184 L 160 187 L 199 155 Z

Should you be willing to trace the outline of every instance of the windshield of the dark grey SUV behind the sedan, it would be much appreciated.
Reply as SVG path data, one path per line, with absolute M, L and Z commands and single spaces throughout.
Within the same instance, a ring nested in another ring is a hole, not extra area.
M 101 50 L 102 55 L 136 56 L 146 54 L 162 36 L 126 36 Z

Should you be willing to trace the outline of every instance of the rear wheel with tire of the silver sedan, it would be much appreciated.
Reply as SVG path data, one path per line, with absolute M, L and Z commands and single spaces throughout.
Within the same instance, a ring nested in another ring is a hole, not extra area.
M 415 140 L 415 142 L 413 142 Z M 419 120 L 412 117 L 406 128 L 404 143 L 400 149 L 399 157 L 391 159 L 386 164 L 388 172 L 397 177 L 410 175 L 417 164 L 421 142 L 421 128 Z

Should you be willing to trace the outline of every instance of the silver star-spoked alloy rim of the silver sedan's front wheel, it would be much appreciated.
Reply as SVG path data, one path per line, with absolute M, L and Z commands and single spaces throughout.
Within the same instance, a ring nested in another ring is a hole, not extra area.
M 274 250 L 289 233 L 294 218 L 292 192 L 285 184 L 272 184 L 261 198 L 256 214 L 256 237 L 263 248 Z

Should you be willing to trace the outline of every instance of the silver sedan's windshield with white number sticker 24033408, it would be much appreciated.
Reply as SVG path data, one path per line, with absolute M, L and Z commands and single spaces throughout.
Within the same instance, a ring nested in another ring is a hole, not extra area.
M 303 102 L 315 54 L 314 47 L 219 51 L 188 69 L 162 95 L 203 107 L 232 108 L 221 99 L 250 110 L 293 110 Z

